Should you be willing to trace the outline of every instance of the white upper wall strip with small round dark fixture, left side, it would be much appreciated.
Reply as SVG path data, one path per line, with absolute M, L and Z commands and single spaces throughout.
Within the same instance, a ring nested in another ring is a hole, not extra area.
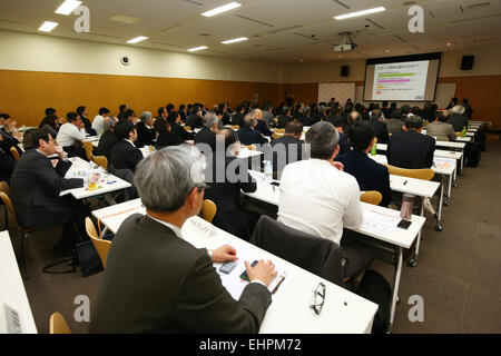
M 253 61 L 11 31 L 0 31 L 0 69 L 275 83 L 284 81 L 282 66 Z M 127 67 L 119 61 L 122 55 L 131 58 Z

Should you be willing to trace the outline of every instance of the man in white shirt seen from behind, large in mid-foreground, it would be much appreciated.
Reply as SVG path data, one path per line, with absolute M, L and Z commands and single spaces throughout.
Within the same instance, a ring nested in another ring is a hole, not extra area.
M 331 122 L 317 122 L 306 132 L 311 158 L 285 166 L 281 179 L 278 221 L 297 230 L 341 244 L 343 228 L 356 229 L 363 220 L 356 179 L 334 161 L 340 135 Z M 346 233 L 345 233 L 346 234 Z M 369 266 L 370 253 L 344 244 L 346 276 Z M 346 245 L 346 246 L 345 246 Z

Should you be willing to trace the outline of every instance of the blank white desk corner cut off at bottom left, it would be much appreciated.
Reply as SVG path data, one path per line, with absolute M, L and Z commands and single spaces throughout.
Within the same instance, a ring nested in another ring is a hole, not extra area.
M 0 280 L 2 284 L 0 288 L 0 313 L 4 313 L 3 304 L 7 304 L 18 312 L 23 333 L 37 334 L 37 326 L 7 230 L 0 233 Z M 1 315 L 0 318 L 4 318 L 4 316 Z

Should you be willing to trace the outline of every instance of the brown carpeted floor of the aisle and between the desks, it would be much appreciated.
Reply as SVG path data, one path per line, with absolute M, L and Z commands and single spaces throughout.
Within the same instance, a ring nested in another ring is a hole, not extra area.
M 478 168 L 458 177 L 443 231 L 426 221 L 416 268 L 404 266 L 393 333 L 501 333 L 501 141 L 489 140 Z M 2 221 L 2 227 L 3 221 Z M 49 316 L 60 312 L 73 333 L 87 333 L 88 323 L 75 322 L 79 295 L 96 300 L 102 274 L 48 275 L 45 265 L 57 260 L 52 247 L 60 230 L 37 233 L 30 243 L 30 279 L 24 283 L 39 333 L 48 333 Z M 17 236 L 11 231 L 11 237 Z M 19 238 L 12 238 L 19 250 Z M 391 281 L 392 267 L 375 261 L 372 268 Z M 134 278 L 134 276 L 131 276 Z M 409 297 L 424 301 L 424 322 L 409 320 Z

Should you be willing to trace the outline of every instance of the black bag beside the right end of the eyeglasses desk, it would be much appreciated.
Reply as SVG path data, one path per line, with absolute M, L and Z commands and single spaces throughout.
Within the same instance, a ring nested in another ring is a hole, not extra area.
M 380 273 L 367 269 L 355 293 L 379 305 L 372 325 L 372 334 L 385 334 L 390 327 L 390 308 L 392 303 L 390 284 Z

